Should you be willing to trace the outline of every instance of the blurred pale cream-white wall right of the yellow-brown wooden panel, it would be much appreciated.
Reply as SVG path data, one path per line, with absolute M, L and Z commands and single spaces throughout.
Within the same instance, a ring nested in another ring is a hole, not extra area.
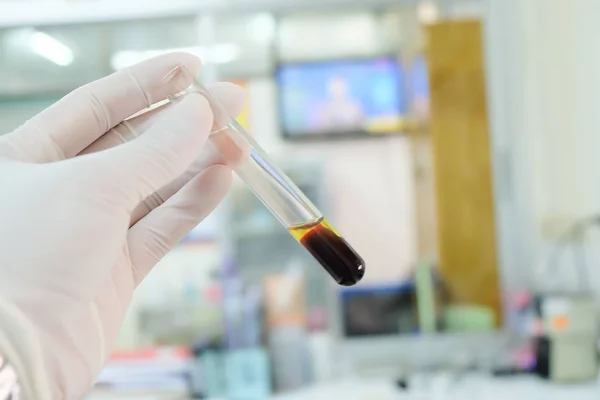
M 599 12 L 595 0 L 487 1 L 503 266 L 513 284 L 573 282 L 569 253 L 561 273 L 537 267 L 548 265 L 557 234 L 600 209 Z M 600 293 L 597 244 L 585 247 Z

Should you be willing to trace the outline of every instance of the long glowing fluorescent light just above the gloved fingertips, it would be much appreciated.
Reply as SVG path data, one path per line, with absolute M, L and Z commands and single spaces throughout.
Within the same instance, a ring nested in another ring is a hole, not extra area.
M 233 43 L 222 43 L 208 47 L 197 46 L 141 51 L 123 50 L 118 51 L 112 55 L 110 64 L 113 67 L 113 69 L 118 70 L 133 64 L 137 64 L 149 58 L 172 52 L 190 53 L 202 59 L 205 62 L 211 62 L 215 64 L 227 64 L 229 62 L 232 62 L 239 56 L 238 46 L 236 46 Z

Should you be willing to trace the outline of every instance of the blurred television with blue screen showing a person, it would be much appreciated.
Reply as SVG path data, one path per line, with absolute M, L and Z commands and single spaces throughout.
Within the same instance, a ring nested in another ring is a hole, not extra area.
M 395 133 L 407 111 L 394 58 L 282 65 L 277 70 L 282 131 L 289 138 Z

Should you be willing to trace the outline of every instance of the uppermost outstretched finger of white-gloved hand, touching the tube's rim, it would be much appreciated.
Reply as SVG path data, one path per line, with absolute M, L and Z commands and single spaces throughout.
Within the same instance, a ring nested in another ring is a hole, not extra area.
M 71 158 L 127 117 L 165 98 L 164 77 L 177 66 L 200 72 L 200 60 L 171 53 L 122 69 L 76 89 L 0 139 L 2 155 L 26 162 Z M 173 80 L 172 91 L 191 82 Z

